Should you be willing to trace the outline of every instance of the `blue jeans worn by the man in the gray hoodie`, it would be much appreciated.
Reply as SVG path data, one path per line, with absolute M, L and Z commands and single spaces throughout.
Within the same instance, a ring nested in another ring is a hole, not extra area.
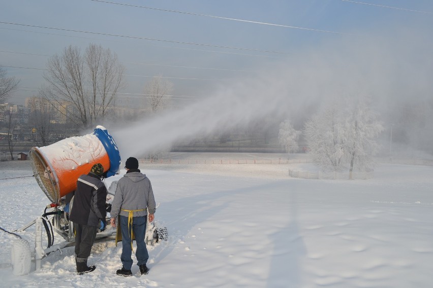
M 147 216 L 133 217 L 132 220 L 132 229 L 134 231 L 135 242 L 137 243 L 135 257 L 137 258 L 138 266 L 146 264 L 147 260 L 149 259 L 146 243 L 144 243 L 144 236 L 146 234 L 146 220 Z M 131 270 L 131 228 L 128 229 L 128 217 L 120 216 L 120 223 L 118 224 L 120 224 L 120 230 L 122 232 L 122 254 L 120 256 L 120 260 L 122 261 L 123 267 L 125 269 Z

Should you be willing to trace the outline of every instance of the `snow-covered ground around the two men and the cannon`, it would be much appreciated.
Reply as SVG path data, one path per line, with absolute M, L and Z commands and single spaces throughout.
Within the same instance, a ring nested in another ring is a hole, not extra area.
M 111 241 L 95 244 L 92 273 L 75 273 L 68 247 L 44 258 L 39 271 L 15 276 L 17 238 L 0 231 L 0 286 L 431 287 L 433 167 L 379 164 L 373 179 L 354 181 L 288 176 L 289 167 L 311 165 L 141 162 L 160 203 L 156 223 L 169 232 L 168 241 L 148 246 L 148 275 L 136 265 L 132 277 L 115 275 L 121 243 Z M 30 161 L 0 163 L 0 227 L 7 231 L 49 204 L 26 177 L 32 174 Z M 34 227 L 19 235 L 34 245 Z

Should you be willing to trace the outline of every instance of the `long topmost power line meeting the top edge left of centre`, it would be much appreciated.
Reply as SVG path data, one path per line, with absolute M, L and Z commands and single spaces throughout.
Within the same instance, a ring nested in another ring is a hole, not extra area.
M 151 9 L 151 10 L 158 10 L 158 11 L 164 11 L 164 12 L 173 12 L 173 13 L 180 13 L 180 14 L 187 14 L 187 15 L 195 15 L 195 16 L 202 16 L 202 17 L 210 17 L 210 18 L 217 18 L 217 19 L 224 19 L 224 20 L 231 20 L 231 21 L 240 21 L 240 22 L 247 22 L 247 23 L 254 23 L 254 24 L 262 24 L 262 25 L 278 26 L 278 27 L 284 27 L 284 28 L 302 29 L 302 30 L 310 30 L 310 31 L 318 31 L 318 32 L 334 33 L 334 34 L 343 34 L 343 35 L 354 35 L 354 34 L 343 33 L 343 32 L 335 32 L 335 31 L 320 30 L 320 29 L 313 29 L 313 28 L 305 28 L 305 27 L 298 27 L 298 26 L 289 26 L 289 25 L 273 24 L 273 23 L 266 23 L 266 22 L 252 21 L 252 20 L 244 20 L 244 19 L 236 19 L 236 18 L 228 18 L 228 17 L 221 17 L 221 16 L 214 16 L 214 15 L 206 15 L 206 14 L 198 14 L 198 13 L 184 12 L 184 11 L 176 11 L 176 10 L 160 9 L 160 8 L 153 8 L 153 7 L 146 7 L 146 6 L 138 6 L 138 5 L 131 5 L 131 4 L 123 4 L 123 3 L 116 3 L 116 2 L 109 2 L 109 1 L 102 1 L 102 0 L 90 0 L 90 1 L 101 2 L 101 3 L 106 3 L 106 4 L 121 5 L 121 6 L 128 6 L 128 7 L 134 7 L 134 8 L 143 8 L 143 9 Z

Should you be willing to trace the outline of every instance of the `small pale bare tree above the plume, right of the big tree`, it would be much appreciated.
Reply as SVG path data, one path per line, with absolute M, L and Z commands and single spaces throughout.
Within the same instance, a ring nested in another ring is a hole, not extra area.
M 152 80 L 144 87 L 144 93 L 147 95 L 148 103 L 152 113 L 162 111 L 167 108 L 168 96 L 173 92 L 173 83 L 163 79 L 162 75 L 153 77 Z

